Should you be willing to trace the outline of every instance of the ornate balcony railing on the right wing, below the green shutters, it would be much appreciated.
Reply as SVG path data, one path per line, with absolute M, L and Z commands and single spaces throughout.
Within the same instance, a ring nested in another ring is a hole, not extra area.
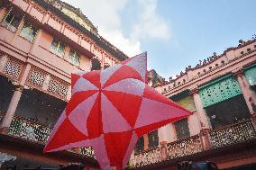
M 210 130 L 209 142 L 211 146 L 209 149 L 221 148 L 255 138 L 256 130 L 252 121 L 242 121 L 219 130 Z M 191 156 L 202 152 L 203 150 L 203 141 L 198 134 L 187 139 L 168 143 L 166 147 L 163 148 L 154 148 L 152 150 L 143 151 L 142 153 L 133 155 L 130 159 L 129 165 L 132 168 L 150 166 L 161 161 Z

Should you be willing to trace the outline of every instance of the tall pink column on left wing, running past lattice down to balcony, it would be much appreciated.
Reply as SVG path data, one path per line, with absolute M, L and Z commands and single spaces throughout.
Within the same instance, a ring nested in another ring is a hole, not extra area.
M 11 102 L 9 103 L 9 107 L 7 112 L 5 113 L 5 118 L 2 121 L 1 127 L 0 127 L 0 133 L 7 133 L 9 130 L 9 127 L 11 125 L 11 122 L 14 119 L 14 113 L 16 111 L 16 108 L 18 106 L 18 103 L 20 102 L 21 96 L 23 94 L 23 86 L 25 84 L 25 81 L 27 79 L 27 76 L 29 75 L 29 71 L 31 69 L 31 65 L 27 64 L 24 72 L 23 77 L 21 79 L 20 84 L 16 85 L 14 95 L 11 99 Z

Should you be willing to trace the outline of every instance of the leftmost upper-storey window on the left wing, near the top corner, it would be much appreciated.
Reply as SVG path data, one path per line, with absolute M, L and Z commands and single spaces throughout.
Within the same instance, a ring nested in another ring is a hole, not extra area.
M 17 17 L 14 13 L 12 13 L 13 8 L 11 8 L 4 17 L 4 20 L 1 22 L 1 24 L 8 29 L 9 31 L 17 31 L 19 24 L 21 22 L 21 19 Z

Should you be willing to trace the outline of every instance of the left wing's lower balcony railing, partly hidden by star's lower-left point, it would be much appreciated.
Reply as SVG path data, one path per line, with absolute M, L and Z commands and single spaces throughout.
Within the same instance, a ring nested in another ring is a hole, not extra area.
M 4 119 L 5 112 L 0 112 L 0 122 Z M 22 116 L 14 115 L 14 119 L 8 130 L 9 135 L 30 139 L 32 141 L 45 143 L 50 136 L 52 128 L 38 121 L 33 121 Z M 69 150 L 87 157 L 95 157 L 91 147 Z

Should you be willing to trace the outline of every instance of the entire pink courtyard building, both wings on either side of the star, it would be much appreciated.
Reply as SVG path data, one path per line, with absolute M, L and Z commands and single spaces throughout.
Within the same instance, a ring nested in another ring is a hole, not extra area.
M 104 69 L 128 57 L 69 4 L 5 0 L 0 5 L 0 156 L 5 156 L 0 165 L 56 168 L 78 162 L 98 169 L 91 148 L 47 155 L 42 148 L 69 101 L 71 73 Z M 169 81 L 151 70 L 149 84 L 194 115 L 139 139 L 127 169 L 177 169 L 182 160 L 214 161 L 220 169 L 252 167 L 255 57 L 256 40 L 240 40 Z

